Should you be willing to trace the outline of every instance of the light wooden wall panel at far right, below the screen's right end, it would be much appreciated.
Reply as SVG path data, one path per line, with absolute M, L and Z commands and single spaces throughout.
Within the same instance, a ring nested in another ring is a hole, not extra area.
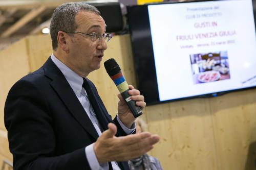
M 256 142 L 255 89 L 211 99 L 210 107 L 214 113 L 212 120 L 219 168 L 245 169 L 249 147 Z M 256 169 L 256 166 L 250 164 L 247 168 Z

